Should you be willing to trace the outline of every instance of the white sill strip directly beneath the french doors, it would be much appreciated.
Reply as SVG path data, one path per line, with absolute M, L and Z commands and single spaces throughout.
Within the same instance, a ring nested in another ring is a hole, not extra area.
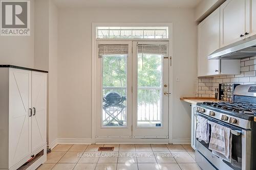
M 111 144 L 167 144 L 169 139 L 137 139 L 137 138 L 96 138 L 97 144 L 111 143 Z

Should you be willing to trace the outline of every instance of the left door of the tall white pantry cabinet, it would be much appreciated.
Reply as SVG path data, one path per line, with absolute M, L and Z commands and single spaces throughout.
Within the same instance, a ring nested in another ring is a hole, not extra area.
M 31 71 L 9 69 L 9 167 L 31 154 Z

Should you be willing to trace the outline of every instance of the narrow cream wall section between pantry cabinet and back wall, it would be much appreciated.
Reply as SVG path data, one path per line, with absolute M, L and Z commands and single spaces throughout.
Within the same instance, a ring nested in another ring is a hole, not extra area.
M 47 142 L 57 139 L 58 10 L 52 0 L 35 0 L 34 68 L 48 70 Z

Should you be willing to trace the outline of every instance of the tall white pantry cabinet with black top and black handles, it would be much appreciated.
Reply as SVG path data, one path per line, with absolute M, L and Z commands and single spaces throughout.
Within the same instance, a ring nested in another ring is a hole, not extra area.
M 0 169 L 46 161 L 47 73 L 0 66 Z

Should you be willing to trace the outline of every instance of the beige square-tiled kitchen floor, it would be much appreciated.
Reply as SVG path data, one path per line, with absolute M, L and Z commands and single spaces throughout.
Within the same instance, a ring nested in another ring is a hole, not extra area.
M 115 147 L 98 152 L 99 147 Z M 188 144 L 58 144 L 38 170 L 201 170 Z

